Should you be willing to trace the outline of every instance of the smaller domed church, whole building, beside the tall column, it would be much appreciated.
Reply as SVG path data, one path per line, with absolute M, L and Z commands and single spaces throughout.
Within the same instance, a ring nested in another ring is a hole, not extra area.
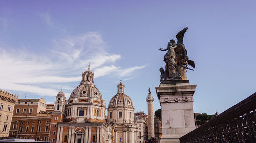
M 114 95 L 108 105 L 108 123 L 114 130 L 114 142 L 137 142 L 137 123 L 134 121 L 133 102 L 124 94 L 122 81 L 117 86 L 117 94 Z

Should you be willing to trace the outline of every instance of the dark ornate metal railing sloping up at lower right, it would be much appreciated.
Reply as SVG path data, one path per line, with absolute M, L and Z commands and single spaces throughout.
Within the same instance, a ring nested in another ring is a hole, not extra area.
M 191 142 L 256 142 L 256 93 L 180 138 Z

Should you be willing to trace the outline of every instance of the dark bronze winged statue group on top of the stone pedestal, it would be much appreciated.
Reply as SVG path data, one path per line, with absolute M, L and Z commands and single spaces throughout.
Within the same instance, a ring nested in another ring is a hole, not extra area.
M 166 63 L 165 71 L 163 68 L 160 68 L 161 72 L 161 81 L 162 80 L 187 80 L 186 71 L 187 69 L 193 70 L 188 68 L 188 66 L 192 66 L 195 68 L 195 63 L 192 60 L 189 60 L 187 56 L 187 50 L 185 45 L 183 44 L 183 37 L 187 28 L 181 30 L 177 35 L 176 38 L 178 42 L 176 43 L 175 40 L 170 40 L 167 45 L 166 49 L 159 49 L 161 51 L 167 51 L 164 55 L 164 62 Z

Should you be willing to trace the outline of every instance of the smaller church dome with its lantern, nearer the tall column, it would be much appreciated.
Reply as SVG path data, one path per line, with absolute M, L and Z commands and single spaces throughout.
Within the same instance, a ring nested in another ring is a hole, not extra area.
M 131 98 L 124 94 L 124 84 L 122 83 L 122 80 L 117 86 L 117 94 L 110 99 L 108 108 L 114 106 L 126 106 L 133 108 L 133 102 Z

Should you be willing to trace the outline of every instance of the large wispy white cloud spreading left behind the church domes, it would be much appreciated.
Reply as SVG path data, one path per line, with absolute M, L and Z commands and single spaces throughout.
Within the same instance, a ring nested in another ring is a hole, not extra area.
M 53 46 L 46 49 L 44 52 L 47 54 L 44 55 L 26 51 L 26 48 L 14 51 L 11 50 L 13 47 L 0 43 L 0 67 L 4 69 L 0 74 L 0 88 L 56 96 L 60 87 L 71 90 L 67 83 L 81 80 L 81 73 L 87 69 L 89 62 L 95 78 L 108 74 L 129 76 L 145 67 L 122 69 L 115 66 L 121 55 L 109 53 L 107 48 L 97 32 L 53 39 Z

